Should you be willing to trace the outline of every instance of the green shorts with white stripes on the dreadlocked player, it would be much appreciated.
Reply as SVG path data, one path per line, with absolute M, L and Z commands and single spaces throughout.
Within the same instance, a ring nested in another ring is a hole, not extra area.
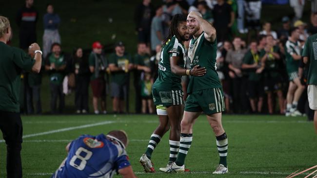
M 183 105 L 183 95 L 184 93 L 182 90 L 166 90 L 157 87 L 152 88 L 152 96 L 155 106 Z

